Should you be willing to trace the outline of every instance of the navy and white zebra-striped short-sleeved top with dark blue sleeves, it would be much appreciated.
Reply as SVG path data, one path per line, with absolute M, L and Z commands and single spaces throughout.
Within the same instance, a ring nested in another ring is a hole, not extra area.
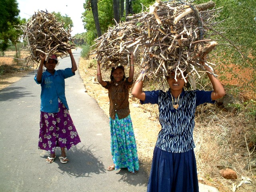
M 214 103 L 212 91 L 184 91 L 180 94 L 178 108 L 172 104 L 170 90 L 145 91 L 142 104 L 158 104 L 159 122 L 162 126 L 156 141 L 156 147 L 168 152 L 186 152 L 195 147 L 193 140 L 194 114 L 196 106 L 203 103 Z

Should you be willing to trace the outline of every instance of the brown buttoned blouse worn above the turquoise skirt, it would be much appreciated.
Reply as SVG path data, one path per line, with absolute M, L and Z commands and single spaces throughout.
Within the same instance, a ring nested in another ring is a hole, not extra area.
M 126 80 L 116 84 L 113 81 L 106 81 L 107 85 L 104 86 L 108 90 L 109 97 L 109 115 L 115 119 L 117 114 L 118 119 L 123 119 L 130 114 L 129 108 L 129 89 L 132 87 L 132 82 Z

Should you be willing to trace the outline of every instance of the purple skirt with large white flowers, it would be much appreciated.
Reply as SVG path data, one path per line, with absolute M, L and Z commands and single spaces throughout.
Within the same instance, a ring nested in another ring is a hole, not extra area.
M 76 127 L 68 109 L 59 100 L 59 112 L 48 113 L 41 111 L 38 149 L 54 153 L 56 147 L 72 146 L 80 143 Z

